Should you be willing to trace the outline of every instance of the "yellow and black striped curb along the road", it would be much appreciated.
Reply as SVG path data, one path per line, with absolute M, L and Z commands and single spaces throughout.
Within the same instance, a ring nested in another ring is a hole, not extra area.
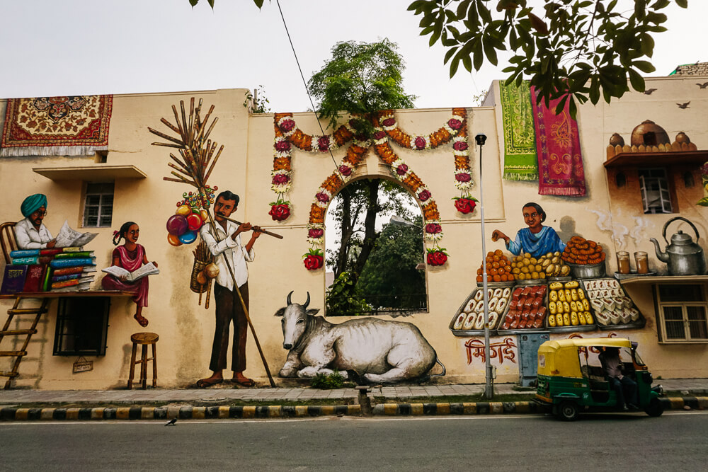
M 704 410 L 708 397 L 662 398 L 665 410 Z M 542 413 L 529 401 L 476 403 L 379 403 L 375 416 L 504 415 Z M 0 420 L 210 420 L 251 418 L 307 418 L 329 415 L 361 415 L 360 405 L 296 406 L 183 406 L 118 408 L 0 408 Z

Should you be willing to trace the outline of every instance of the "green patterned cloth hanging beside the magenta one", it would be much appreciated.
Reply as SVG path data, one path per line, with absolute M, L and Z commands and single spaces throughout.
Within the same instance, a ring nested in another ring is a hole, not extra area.
M 504 178 L 537 180 L 536 140 L 529 82 L 499 83 L 504 125 Z

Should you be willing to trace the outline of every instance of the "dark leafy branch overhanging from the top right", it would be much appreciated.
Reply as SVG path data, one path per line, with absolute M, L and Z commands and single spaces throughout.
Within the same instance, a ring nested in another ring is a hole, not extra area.
M 687 8 L 687 0 L 673 0 Z M 421 15 L 421 35 L 447 48 L 444 62 L 454 76 L 460 62 L 467 71 L 498 63 L 507 47 L 513 56 L 507 83 L 530 77 L 545 103 L 588 98 L 607 103 L 629 91 L 644 91 L 640 73 L 654 71 L 653 33 L 666 28 L 661 13 L 671 0 L 543 0 L 542 12 L 527 0 L 416 0 L 409 10 Z M 628 8 L 629 7 L 629 8 Z M 535 13 L 534 13 L 535 11 Z

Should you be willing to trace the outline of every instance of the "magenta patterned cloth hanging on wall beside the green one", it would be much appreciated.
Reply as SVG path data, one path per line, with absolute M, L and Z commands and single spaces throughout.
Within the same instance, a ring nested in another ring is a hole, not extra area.
M 556 105 L 560 98 L 551 100 L 549 107 L 544 103 L 537 105 L 536 98 L 535 87 L 531 87 L 538 143 L 538 193 L 584 197 L 585 171 L 578 122 L 571 118 L 568 102 L 560 115 L 556 115 Z

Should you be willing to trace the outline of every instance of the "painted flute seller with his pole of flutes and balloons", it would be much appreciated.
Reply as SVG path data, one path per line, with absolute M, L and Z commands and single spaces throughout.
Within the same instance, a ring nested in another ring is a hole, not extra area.
M 189 114 L 185 113 L 183 101 L 180 102 L 180 108 L 181 117 L 177 113 L 176 106 L 172 106 L 176 125 L 164 118 L 161 119 L 161 122 L 175 132 L 178 137 L 171 137 L 152 128 L 148 129 L 152 134 L 168 141 L 152 144 L 178 149 L 181 156 L 180 159 L 174 154 L 170 154 L 170 158 L 174 162 L 168 163 L 173 169 L 171 171 L 172 177 L 164 177 L 164 180 L 185 183 L 196 188 L 196 192 L 183 195 L 185 200 L 178 204 L 176 214 L 169 217 L 167 221 L 169 243 L 172 246 L 190 244 L 196 240 L 196 236 L 199 234 L 202 241 L 200 246 L 203 243 L 211 254 L 209 257 L 203 254 L 204 251 L 200 251 L 200 253 L 195 251 L 195 268 L 192 271 L 193 280 L 190 281 L 190 287 L 193 287 L 193 282 L 197 282 L 198 286 L 202 287 L 209 284 L 211 280 L 215 281 L 215 333 L 209 364 L 212 374 L 205 379 L 198 380 L 196 386 L 207 388 L 224 382 L 223 371 L 227 367 L 229 332 L 233 323 L 232 381 L 239 386 L 255 386 L 253 379 L 244 375 L 246 339 L 250 327 L 270 386 L 275 387 L 275 381 L 270 374 L 261 343 L 258 342 L 256 330 L 251 323 L 247 264 L 253 262 L 256 256 L 253 245 L 261 233 L 279 238 L 282 236 L 263 231 L 259 226 L 251 225 L 249 222 L 241 223 L 229 218 L 238 209 L 240 201 L 239 195 L 234 192 L 224 190 L 214 200 L 213 195 L 217 188 L 210 187 L 207 181 L 224 150 L 222 145 L 215 154 L 218 144 L 209 139 L 217 122 L 217 118 L 214 118 L 211 125 L 207 126 L 214 111 L 214 105 L 203 117 L 201 115 L 201 99 L 196 107 L 194 98 L 190 100 Z M 213 217 L 209 212 L 212 203 L 214 205 Z M 244 244 L 241 234 L 249 232 L 251 235 Z M 197 267 L 199 268 L 195 270 Z M 201 288 L 199 291 L 201 301 Z M 207 292 L 208 296 L 209 292 Z

